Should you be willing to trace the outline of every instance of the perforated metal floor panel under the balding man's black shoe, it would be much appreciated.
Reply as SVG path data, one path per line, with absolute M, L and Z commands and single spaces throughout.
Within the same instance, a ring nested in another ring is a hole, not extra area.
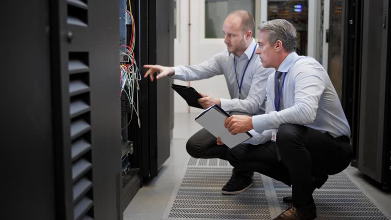
M 206 159 L 201 160 L 201 165 Z M 209 161 L 211 166 L 218 164 Z M 200 164 L 200 163 L 199 163 Z M 261 175 L 241 194 L 221 194 L 232 167 L 188 167 L 169 212 L 162 219 L 271 219 Z

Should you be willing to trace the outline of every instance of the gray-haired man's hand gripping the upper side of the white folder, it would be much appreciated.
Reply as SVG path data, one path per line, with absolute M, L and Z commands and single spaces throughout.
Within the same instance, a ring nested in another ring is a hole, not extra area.
M 244 133 L 253 129 L 253 117 L 234 115 L 226 119 L 224 126 L 231 134 Z

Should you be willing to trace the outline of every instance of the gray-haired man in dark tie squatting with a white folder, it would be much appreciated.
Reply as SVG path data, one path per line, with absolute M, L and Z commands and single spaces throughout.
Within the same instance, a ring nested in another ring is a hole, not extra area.
M 292 185 L 292 198 L 284 199 L 293 205 L 274 219 L 315 219 L 313 191 L 351 161 L 350 127 L 327 72 L 295 52 L 294 26 L 276 19 L 258 29 L 256 53 L 264 67 L 277 71 L 267 81 L 266 114 L 225 122 L 232 134 L 253 133 L 249 143 L 258 146 L 238 145 L 227 159 L 237 169 Z

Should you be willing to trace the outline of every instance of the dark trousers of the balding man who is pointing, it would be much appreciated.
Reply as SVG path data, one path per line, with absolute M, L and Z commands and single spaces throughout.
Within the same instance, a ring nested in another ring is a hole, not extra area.
M 226 145 L 217 145 L 217 138 L 206 129 L 201 129 L 193 134 L 186 143 L 186 150 L 194 158 L 220 158 L 227 160 L 227 151 L 230 149 Z M 253 171 L 241 171 L 234 168 L 233 175 L 248 177 L 253 175 Z

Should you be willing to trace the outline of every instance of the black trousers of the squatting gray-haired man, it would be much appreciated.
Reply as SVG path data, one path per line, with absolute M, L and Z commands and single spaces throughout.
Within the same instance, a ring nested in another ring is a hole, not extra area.
M 348 167 L 351 157 L 347 136 L 333 138 L 328 133 L 292 124 L 278 129 L 276 143 L 241 144 L 227 151 L 227 159 L 235 168 L 256 171 L 292 185 L 296 207 L 314 203 L 311 176 L 340 173 Z

